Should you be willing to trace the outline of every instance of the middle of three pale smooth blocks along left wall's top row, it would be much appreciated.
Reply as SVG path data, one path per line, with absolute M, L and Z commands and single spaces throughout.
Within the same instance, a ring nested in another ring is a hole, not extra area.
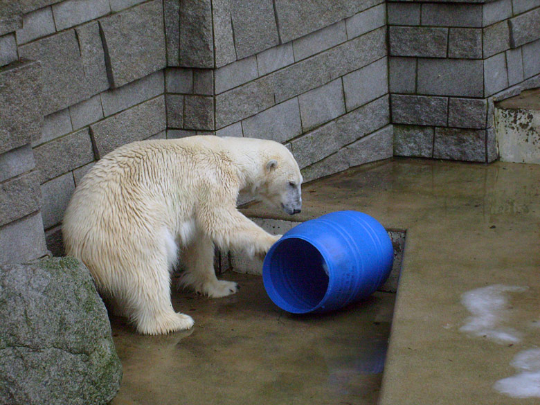
M 109 14 L 109 0 L 66 0 L 53 6 L 57 30 L 65 30 Z

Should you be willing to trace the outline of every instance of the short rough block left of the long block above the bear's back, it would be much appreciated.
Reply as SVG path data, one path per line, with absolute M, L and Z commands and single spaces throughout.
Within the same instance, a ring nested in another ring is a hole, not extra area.
M 39 181 L 45 183 L 93 161 L 92 142 L 88 128 L 34 148 Z

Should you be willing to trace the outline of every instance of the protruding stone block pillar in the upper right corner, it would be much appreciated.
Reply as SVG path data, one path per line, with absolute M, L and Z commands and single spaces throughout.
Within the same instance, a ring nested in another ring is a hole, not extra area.
M 388 1 L 395 154 L 490 162 L 493 101 L 540 86 L 540 1 Z

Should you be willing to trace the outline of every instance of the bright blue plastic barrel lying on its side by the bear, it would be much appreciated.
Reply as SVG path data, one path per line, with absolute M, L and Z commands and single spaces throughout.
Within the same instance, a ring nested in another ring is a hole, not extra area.
M 394 251 L 376 219 L 337 211 L 285 233 L 262 265 L 273 303 L 293 314 L 339 309 L 379 288 L 392 269 Z

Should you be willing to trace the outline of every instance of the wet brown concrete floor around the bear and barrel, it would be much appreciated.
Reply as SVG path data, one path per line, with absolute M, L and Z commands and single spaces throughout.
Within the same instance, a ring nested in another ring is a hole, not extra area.
M 292 316 L 259 276 L 224 273 L 234 296 L 173 294 L 188 332 L 140 336 L 113 319 L 112 404 L 538 404 L 540 165 L 391 159 L 306 184 L 292 218 L 243 212 L 348 209 L 406 231 L 397 297 Z

